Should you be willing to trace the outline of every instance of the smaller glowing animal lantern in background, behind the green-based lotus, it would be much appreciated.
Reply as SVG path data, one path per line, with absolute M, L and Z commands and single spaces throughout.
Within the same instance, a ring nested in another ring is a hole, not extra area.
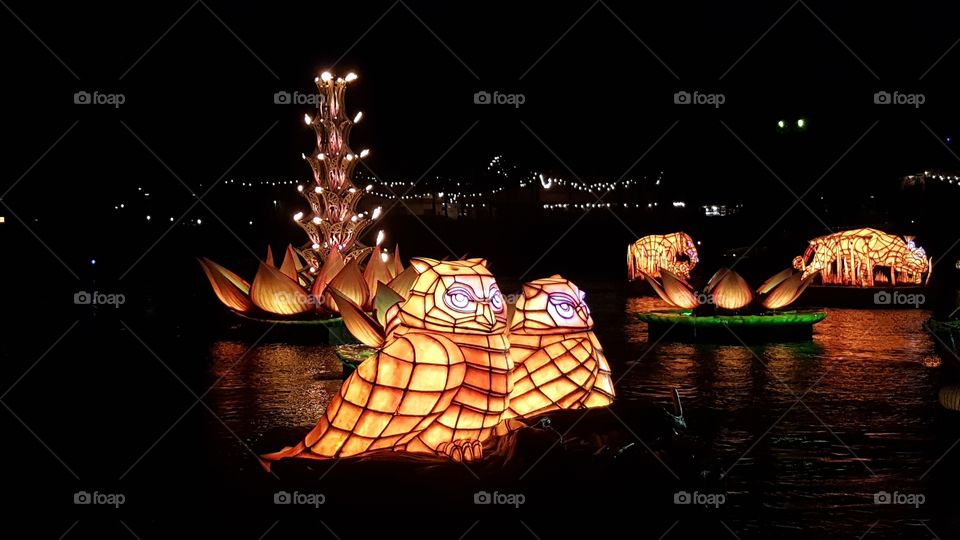
M 699 262 L 697 248 L 684 232 L 652 234 L 627 246 L 627 274 L 630 280 L 660 277 L 660 269 L 684 279 Z

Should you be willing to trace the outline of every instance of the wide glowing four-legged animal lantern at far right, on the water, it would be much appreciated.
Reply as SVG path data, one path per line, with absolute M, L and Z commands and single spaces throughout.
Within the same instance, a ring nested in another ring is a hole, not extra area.
M 933 258 L 927 258 L 913 237 L 854 229 L 814 238 L 803 256 L 794 258 L 793 266 L 803 271 L 804 278 L 820 272 L 825 285 L 895 286 L 898 281 L 919 285 L 924 273 L 930 280 Z

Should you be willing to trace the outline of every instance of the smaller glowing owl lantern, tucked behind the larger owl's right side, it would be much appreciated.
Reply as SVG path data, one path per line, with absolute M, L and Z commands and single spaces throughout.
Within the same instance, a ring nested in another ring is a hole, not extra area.
M 585 295 L 555 275 L 523 286 L 510 328 L 516 366 L 506 418 L 613 402 L 613 380 Z

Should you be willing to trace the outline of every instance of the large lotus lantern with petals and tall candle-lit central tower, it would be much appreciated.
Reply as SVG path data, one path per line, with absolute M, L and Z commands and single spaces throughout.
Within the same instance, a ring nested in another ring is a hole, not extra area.
M 299 249 L 287 246 L 279 268 L 268 247 L 267 259 L 260 263 L 252 284 L 209 259 L 200 260 L 217 298 L 230 309 L 254 315 L 327 318 L 337 314 L 328 291 L 333 287 L 370 310 L 378 284 L 402 272 L 399 249 L 393 253 L 380 250 L 383 231 L 375 246 L 360 242 L 360 236 L 380 217 L 380 208 L 357 211 L 357 203 L 370 187 L 357 188 L 353 170 L 370 151 L 355 153 L 350 148 L 350 130 L 362 113 L 352 118 L 347 115 L 344 94 L 356 79 L 354 73 L 345 77 L 321 74 L 315 79 L 320 96 L 318 114 L 304 115 L 316 134 L 317 148 L 303 155 L 313 172 L 312 185 L 297 186 L 310 210 L 297 212 L 293 220 L 307 233 L 307 243 Z M 367 258 L 361 271 L 360 263 Z

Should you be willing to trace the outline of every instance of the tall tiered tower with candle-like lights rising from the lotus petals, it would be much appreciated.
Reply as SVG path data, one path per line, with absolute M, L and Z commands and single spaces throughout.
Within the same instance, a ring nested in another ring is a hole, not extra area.
M 355 153 L 350 148 L 350 130 L 363 116 L 358 112 L 350 118 L 346 113 L 344 94 L 347 85 L 357 79 L 355 73 L 336 77 L 325 71 L 314 79 L 319 90 L 319 114 L 304 115 L 304 121 L 317 136 L 317 150 L 303 158 L 313 170 L 313 187 L 299 186 L 298 190 L 310 203 L 310 213 L 298 212 L 295 222 L 310 238 L 300 253 L 307 264 L 317 269 L 336 250 L 342 258 L 362 261 L 374 248 L 360 243 L 360 235 L 380 215 L 376 208 L 358 212 L 357 203 L 366 189 L 353 184 L 353 169 L 358 161 L 367 157 L 369 150 Z

